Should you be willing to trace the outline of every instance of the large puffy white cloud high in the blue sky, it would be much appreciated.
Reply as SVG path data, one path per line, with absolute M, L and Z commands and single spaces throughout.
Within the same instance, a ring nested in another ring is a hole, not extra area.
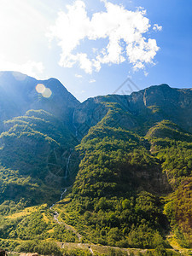
M 90 18 L 85 3 L 77 0 L 67 5 L 66 13 L 60 12 L 55 25 L 49 28 L 49 38 L 56 38 L 61 47 L 61 67 L 73 67 L 78 63 L 85 73 L 92 73 L 99 72 L 102 64 L 129 61 L 137 70 L 153 63 L 160 48 L 155 39 L 143 35 L 150 28 L 145 10 L 130 11 L 107 0 L 102 2 L 106 11 L 97 12 Z M 161 29 L 157 24 L 154 27 L 156 31 Z M 102 45 L 102 49 L 90 48 L 90 57 L 88 52 L 79 50 L 84 39 L 108 39 L 108 44 Z

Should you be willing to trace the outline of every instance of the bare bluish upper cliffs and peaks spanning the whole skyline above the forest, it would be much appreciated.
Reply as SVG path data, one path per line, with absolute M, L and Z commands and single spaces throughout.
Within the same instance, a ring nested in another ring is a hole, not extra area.
M 49 88 L 51 96 L 38 93 L 37 84 Z M 174 89 L 160 84 L 130 96 L 96 96 L 80 103 L 57 79 L 37 80 L 21 73 L 1 72 L 0 121 L 23 115 L 30 109 L 54 114 L 76 128 L 82 137 L 112 109 L 116 111 L 115 125 L 143 134 L 162 119 L 170 119 L 184 130 L 192 131 L 191 89 Z

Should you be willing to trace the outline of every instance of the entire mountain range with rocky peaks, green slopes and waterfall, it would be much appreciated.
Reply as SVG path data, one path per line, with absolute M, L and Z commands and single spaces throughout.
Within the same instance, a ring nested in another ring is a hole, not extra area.
M 2 247 L 80 240 L 177 255 L 164 248 L 192 246 L 191 89 L 80 103 L 56 79 L 6 72 L 0 96 Z

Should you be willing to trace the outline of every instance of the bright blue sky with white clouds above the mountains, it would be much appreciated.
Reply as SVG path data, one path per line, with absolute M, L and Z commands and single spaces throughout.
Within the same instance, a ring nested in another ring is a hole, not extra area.
M 127 77 L 133 90 L 190 88 L 191 9 L 191 0 L 0 0 L 0 70 L 55 77 L 80 101 Z

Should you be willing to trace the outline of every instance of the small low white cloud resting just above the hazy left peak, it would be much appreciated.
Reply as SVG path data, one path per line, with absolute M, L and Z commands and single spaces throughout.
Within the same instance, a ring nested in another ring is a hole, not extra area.
M 20 72 L 39 79 L 38 76 L 44 71 L 44 65 L 42 62 L 36 61 L 27 61 L 23 64 L 16 64 L 14 62 L 5 61 L 3 58 L 0 58 L 0 70 Z

